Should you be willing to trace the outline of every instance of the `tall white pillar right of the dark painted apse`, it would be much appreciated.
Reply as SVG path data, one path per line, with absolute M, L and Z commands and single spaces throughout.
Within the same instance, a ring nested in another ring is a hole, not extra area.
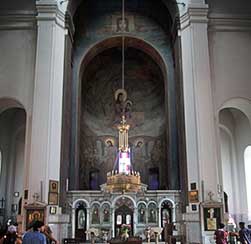
M 217 196 L 218 183 L 207 14 L 204 3 L 190 3 L 180 17 L 188 190 L 196 183 L 201 202 L 209 200 L 209 192 Z M 199 205 L 192 211 L 190 204 L 184 215 L 187 243 L 202 242 L 199 216 Z

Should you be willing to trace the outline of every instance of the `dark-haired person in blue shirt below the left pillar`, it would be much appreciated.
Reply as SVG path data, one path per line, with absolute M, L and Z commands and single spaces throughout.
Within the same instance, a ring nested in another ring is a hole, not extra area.
M 35 221 L 33 231 L 28 231 L 23 236 L 23 244 L 46 244 L 46 237 L 41 233 L 44 223 Z

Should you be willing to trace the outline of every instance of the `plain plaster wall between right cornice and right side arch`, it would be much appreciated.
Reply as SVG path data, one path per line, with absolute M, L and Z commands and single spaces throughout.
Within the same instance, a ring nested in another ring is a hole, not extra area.
M 215 109 L 235 97 L 251 98 L 251 30 L 209 31 Z

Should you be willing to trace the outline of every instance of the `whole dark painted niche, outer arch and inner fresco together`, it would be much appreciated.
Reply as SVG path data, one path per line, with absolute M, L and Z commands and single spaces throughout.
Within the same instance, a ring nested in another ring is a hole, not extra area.
M 160 4 L 153 0 L 126 4 L 125 89 L 130 101 L 127 119 L 131 125 L 132 163 L 135 170 L 142 172 L 142 181 L 149 184 L 157 178 L 159 183 L 152 188 L 179 189 L 174 53 L 171 22 L 167 21 L 170 16 L 160 14 L 164 9 L 162 1 Z M 121 47 L 119 43 L 114 47 L 110 42 L 121 36 L 121 2 L 83 1 L 74 19 L 70 172 L 72 182 L 79 175 L 80 189 L 90 189 L 91 185 L 98 189 L 98 185 L 105 182 L 106 172 L 113 169 L 117 150 L 119 119 L 114 92 L 121 88 Z M 149 44 L 148 48 L 141 48 L 137 41 L 132 43 L 131 37 Z M 104 46 L 104 40 L 108 47 Z M 86 59 L 90 50 L 100 51 L 95 49 L 99 44 L 105 51 L 92 60 Z M 150 46 L 161 54 L 166 70 L 161 71 L 150 58 Z M 80 86 L 82 93 L 78 97 Z M 78 166 L 80 171 L 76 173 Z

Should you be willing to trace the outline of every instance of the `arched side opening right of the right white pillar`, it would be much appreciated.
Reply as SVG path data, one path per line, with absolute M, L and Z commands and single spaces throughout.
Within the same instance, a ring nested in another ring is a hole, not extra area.
M 227 196 L 225 205 L 226 220 L 248 220 L 249 186 L 246 180 L 248 165 L 248 145 L 251 144 L 250 121 L 239 106 L 226 107 L 219 112 L 222 197 Z M 246 151 L 247 150 L 247 151 Z M 242 199 L 242 201 L 239 201 Z

